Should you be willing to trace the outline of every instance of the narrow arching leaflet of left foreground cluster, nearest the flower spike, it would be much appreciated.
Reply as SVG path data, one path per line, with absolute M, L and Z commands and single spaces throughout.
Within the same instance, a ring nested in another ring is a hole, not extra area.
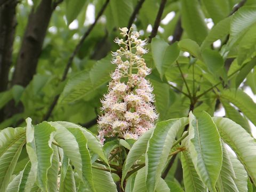
M 69 122 L 50 122 L 50 124 L 52 124 L 52 126 L 61 125 L 66 128 L 68 127 L 68 128 L 80 129 L 83 132 L 83 134 L 85 135 L 85 138 L 87 139 L 88 148 L 90 150 L 92 150 L 94 153 L 98 154 L 100 156 L 100 158 L 103 159 L 103 161 L 108 163 L 108 159 L 107 159 L 105 153 L 103 152 L 103 149 L 102 149 L 102 146 L 101 146 L 99 140 L 89 130 L 83 128 L 82 126 L 76 125 L 74 123 L 69 123 Z

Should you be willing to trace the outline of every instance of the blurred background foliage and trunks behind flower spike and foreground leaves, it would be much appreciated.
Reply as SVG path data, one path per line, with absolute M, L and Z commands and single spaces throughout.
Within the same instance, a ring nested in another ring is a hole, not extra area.
M 100 98 L 115 68 L 113 40 L 119 27 L 132 25 L 151 42 L 145 59 L 153 68 L 149 78 L 159 121 L 186 117 L 189 110 L 212 116 L 221 111 L 251 133 L 255 5 L 255 0 L 2 0 L 0 54 L 10 61 L 0 60 L 0 129 L 31 117 L 34 124 L 69 121 L 97 133 Z

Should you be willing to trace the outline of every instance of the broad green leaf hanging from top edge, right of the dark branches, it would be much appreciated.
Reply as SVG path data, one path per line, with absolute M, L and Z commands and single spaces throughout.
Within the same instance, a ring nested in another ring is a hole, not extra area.
M 198 1 L 182 0 L 181 15 L 182 28 L 185 29 L 188 37 L 201 44 L 208 30 Z

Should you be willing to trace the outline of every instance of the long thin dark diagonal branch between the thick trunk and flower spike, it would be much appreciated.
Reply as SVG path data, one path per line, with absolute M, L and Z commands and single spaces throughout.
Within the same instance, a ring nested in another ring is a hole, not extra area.
M 67 74 L 68 74 L 68 70 L 73 62 L 73 59 L 75 58 L 75 55 L 78 53 L 78 51 L 81 49 L 84 40 L 86 39 L 87 36 L 89 36 L 89 34 L 91 33 L 92 29 L 94 28 L 94 26 L 96 25 L 96 23 L 98 22 L 99 18 L 101 17 L 101 15 L 103 14 L 103 12 L 105 11 L 107 5 L 109 3 L 109 0 L 106 0 L 106 2 L 103 4 L 103 6 L 101 7 L 101 10 L 99 11 L 97 17 L 95 18 L 95 21 L 92 23 L 92 25 L 88 28 L 88 30 L 86 31 L 86 33 L 83 35 L 83 37 L 80 39 L 79 43 L 76 45 L 75 50 L 73 51 L 73 53 L 71 54 L 68 63 L 66 65 L 66 68 L 63 72 L 62 78 L 61 78 L 61 82 L 65 81 L 65 79 L 67 78 Z M 52 114 L 52 111 L 54 109 L 54 107 L 57 105 L 58 99 L 59 99 L 60 95 L 55 96 L 55 98 L 53 99 L 53 102 L 49 108 L 49 110 L 47 111 L 46 115 L 43 118 L 43 121 L 47 121 L 49 119 L 49 117 Z

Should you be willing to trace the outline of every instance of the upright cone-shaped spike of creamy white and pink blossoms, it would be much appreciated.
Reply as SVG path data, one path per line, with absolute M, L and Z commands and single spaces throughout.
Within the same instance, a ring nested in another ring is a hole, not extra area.
M 137 31 L 120 29 L 127 40 L 115 38 L 120 49 L 113 52 L 113 64 L 117 65 L 111 74 L 108 94 L 101 100 L 103 115 L 99 117 L 99 139 L 106 137 L 137 140 L 141 134 L 154 126 L 158 117 L 154 102 L 153 88 L 145 76 L 151 69 L 146 66 L 142 55 L 146 40 L 139 39 Z

